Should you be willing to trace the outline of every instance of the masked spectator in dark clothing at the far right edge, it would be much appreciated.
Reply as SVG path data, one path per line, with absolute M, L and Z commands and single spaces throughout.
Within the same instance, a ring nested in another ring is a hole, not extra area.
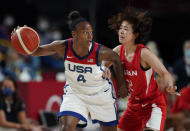
M 190 40 L 184 42 L 183 54 L 184 57 L 174 64 L 174 74 L 176 75 L 178 90 L 187 85 L 188 77 L 190 77 Z

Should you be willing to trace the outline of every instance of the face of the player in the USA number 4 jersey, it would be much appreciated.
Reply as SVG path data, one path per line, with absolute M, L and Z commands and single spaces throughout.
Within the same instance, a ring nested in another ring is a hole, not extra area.
M 81 22 L 73 37 L 80 43 L 90 43 L 93 39 L 92 26 L 88 22 Z

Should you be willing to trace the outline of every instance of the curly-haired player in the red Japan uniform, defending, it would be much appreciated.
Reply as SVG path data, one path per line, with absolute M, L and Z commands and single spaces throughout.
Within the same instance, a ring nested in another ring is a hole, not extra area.
M 127 109 L 119 120 L 118 131 L 163 131 L 166 103 L 154 78 L 154 71 L 163 81 L 160 90 L 175 94 L 176 86 L 170 73 L 141 42 L 150 33 L 151 18 L 146 12 L 126 8 L 108 20 L 118 32 L 119 42 L 113 50 L 120 56 L 130 93 Z M 110 62 L 105 62 L 109 67 Z

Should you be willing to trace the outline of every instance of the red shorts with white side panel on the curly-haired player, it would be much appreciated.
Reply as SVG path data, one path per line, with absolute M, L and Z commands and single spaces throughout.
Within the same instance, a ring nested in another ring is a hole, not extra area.
M 163 131 L 166 118 L 166 105 L 130 104 L 119 120 L 118 128 L 124 131 L 143 131 L 151 128 Z

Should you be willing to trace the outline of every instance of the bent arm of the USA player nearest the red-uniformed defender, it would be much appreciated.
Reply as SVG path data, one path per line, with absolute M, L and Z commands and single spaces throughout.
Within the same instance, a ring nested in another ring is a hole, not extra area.
M 113 63 L 113 68 L 116 74 L 116 78 L 118 80 L 118 86 L 119 86 L 119 95 L 121 97 L 126 97 L 128 95 L 125 79 L 124 79 L 124 73 L 123 73 L 123 67 L 121 65 L 120 57 L 112 51 L 111 49 L 102 46 L 100 48 L 100 53 L 98 56 L 99 62 L 102 61 L 108 61 Z

